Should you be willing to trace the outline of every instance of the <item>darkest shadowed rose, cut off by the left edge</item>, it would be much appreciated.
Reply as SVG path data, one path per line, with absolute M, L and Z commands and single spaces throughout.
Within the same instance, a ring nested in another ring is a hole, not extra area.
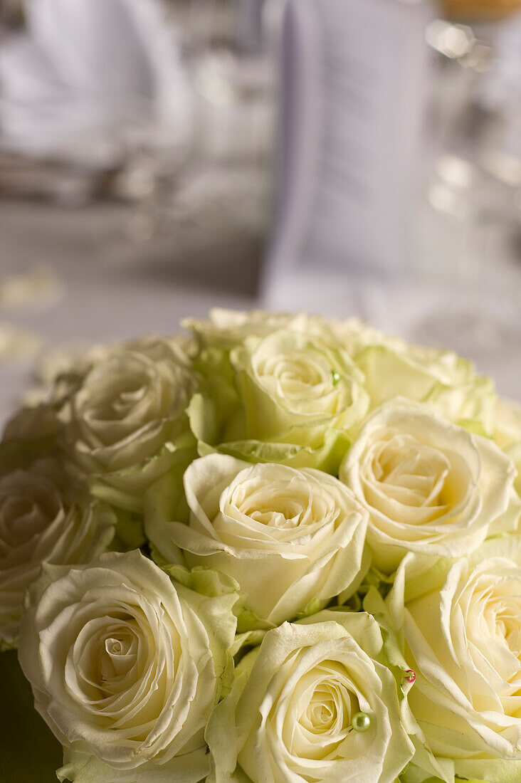
M 27 585 L 42 563 L 85 563 L 114 536 L 114 513 L 56 460 L 0 478 L 0 646 L 16 644 Z

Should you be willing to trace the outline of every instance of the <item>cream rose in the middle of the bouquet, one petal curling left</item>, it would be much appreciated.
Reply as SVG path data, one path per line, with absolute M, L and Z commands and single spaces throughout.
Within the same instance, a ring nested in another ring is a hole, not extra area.
M 184 487 L 189 524 L 167 521 L 165 500 L 175 498 L 175 486 L 165 478 L 150 493 L 147 536 L 167 561 L 179 561 L 183 550 L 190 567 L 210 566 L 236 579 L 250 625 L 270 627 L 316 611 L 353 592 L 367 569 L 367 514 L 328 474 L 210 454 L 190 465 Z

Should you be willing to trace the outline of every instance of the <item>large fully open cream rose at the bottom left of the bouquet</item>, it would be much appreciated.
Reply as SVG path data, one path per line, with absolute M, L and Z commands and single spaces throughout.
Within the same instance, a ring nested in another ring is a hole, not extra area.
M 19 657 L 36 709 L 65 746 L 60 780 L 204 778 L 204 726 L 221 692 L 234 600 L 174 586 L 137 550 L 44 568 Z

